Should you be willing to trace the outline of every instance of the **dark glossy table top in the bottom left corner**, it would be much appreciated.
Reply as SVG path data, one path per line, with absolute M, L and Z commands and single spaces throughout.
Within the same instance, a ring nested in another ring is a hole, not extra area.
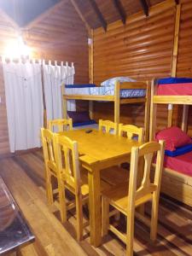
M 9 189 L 0 177 L 0 254 L 33 241 L 34 236 Z

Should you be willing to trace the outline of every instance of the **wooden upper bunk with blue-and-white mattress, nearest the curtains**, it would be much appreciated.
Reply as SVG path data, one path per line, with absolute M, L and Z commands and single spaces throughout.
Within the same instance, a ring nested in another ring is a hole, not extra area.
M 80 89 L 79 89 L 80 88 Z M 93 119 L 93 102 L 113 102 L 114 122 L 119 123 L 120 105 L 143 103 L 145 104 L 144 129 L 145 139 L 149 133 L 150 88 L 147 82 L 116 82 L 113 87 L 95 86 L 91 84 L 62 85 L 63 116 L 67 118 L 67 100 L 89 101 L 90 119 Z

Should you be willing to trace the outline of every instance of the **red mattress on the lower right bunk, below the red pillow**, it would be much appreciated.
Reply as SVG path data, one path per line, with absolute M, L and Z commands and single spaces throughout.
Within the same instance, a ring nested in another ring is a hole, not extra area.
M 164 167 L 192 177 L 192 151 L 175 157 L 165 155 Z

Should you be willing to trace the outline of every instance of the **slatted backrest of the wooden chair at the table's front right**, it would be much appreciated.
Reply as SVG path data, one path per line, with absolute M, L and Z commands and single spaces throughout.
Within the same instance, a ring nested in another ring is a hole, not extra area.
M 131 149 L 131 168 L 130 168 L 130 181 L 129 181 L 129 194 L 128 194 L 128 211 L 135 206 L 136 201 L 142 204 L 152 199 L 152 194 L 155 192 L 160 195 L 160 183 L 164 161 L 164 148 L 165 143 L 151 142 L 144 143 L 141 147 L 133 147 Z M 154 181 L 150 180 L 150 171 L 152 161 L 156 154 L 156 166 L 154 172 Z M 143 170 L 139 169 L 141 158 L 143 158 Z M 137 174 L 143 171 L 142 183 L 137 188 Z M 159 200 L 159 198 L 158 198 Z

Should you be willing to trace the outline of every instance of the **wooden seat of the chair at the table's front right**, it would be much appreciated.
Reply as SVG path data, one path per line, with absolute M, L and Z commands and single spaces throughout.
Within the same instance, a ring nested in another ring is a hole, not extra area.
M 119 212 L 127 214 L 128 207 L 128 189 L 129 182 L 119 183 L 116 186 L 111 187 L 102 191 L 102 196 L 107 197 L 110 205 L 117 208 Z M 143 196 L 143 199 L 138 199 L 135 203 L 135 206 L 138 207 L 146 201 L 152 199 L 152 194 Z

